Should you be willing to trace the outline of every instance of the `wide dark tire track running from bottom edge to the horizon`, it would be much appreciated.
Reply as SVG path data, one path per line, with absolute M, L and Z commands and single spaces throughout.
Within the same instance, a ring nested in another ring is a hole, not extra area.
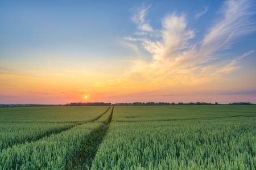
M 114 106 L 107 119 L 107 121 L 102 122 L 102 126 L 92 131 L 90 138 L 88 138 L 83 145 L 79 154 L 75 156 L 71 162 L 68 162 L 65 169 L 90 169 L 92 167 L 93 159 L 98 151 L 102 140 L 108 132 L 110 122 L 112 121 L 112 116 L 114 112 Z

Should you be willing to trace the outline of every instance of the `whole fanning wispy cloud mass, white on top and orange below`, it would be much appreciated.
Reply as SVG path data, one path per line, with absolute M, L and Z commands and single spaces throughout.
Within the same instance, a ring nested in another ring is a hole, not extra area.
M 238 58 L 221 53 L 232 48 L 238 37 L 255 31 L 253 24 L 256 21 L 251 19 L 254 5 L 250 0 L 224 2 L 218 18 L 199 41 L 192 41 L 196 31 L 188 27 L 185 14 L 164 16 L 160 20 L 160 28 L 150 25 L 151 32 L 142 29 L 141 25 L 148 23 L 145 18 L 149 8 L 143 5 L 134 14 L 133 21 L 138 30 L 123 39 L 138 59 L 129 61 L 130 69 L 121 77 L 100 80 L 95 87 L 108 87 L 109 91 L 118 94 L 146 91 L 184 93 L 184 90 L 204 87 L 202 84 L 214 82 L 238 69 L 240 61 L 254 52 L 251 50 Z M 145 50 L 147 53 L 143 53 Z M 146 54 L 147 57 L 139 57 L 140 54 Z

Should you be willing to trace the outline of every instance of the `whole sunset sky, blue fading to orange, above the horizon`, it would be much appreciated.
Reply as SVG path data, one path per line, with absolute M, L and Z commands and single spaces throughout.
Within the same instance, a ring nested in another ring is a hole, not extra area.
M 255 24 L 253 0 L 2 0 L 0 103 L 256 103 Z

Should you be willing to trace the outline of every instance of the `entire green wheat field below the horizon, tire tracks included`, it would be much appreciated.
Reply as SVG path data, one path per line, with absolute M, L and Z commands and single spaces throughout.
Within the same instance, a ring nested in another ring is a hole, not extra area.
M 254 105 L 107 109 L 0 108 L 0 169 L 256 167 Z

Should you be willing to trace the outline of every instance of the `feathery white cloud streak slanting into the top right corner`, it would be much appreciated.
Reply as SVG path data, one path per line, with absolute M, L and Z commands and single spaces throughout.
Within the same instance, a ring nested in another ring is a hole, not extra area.
M 231 48 L 238 37 L 254 32 L 251 16 L 255 7 L 251 1 L 226 1 L 220 9 L 220 19 L 209 29 L 200 46 L 200 56 L 209 57 L 219 50 Z

